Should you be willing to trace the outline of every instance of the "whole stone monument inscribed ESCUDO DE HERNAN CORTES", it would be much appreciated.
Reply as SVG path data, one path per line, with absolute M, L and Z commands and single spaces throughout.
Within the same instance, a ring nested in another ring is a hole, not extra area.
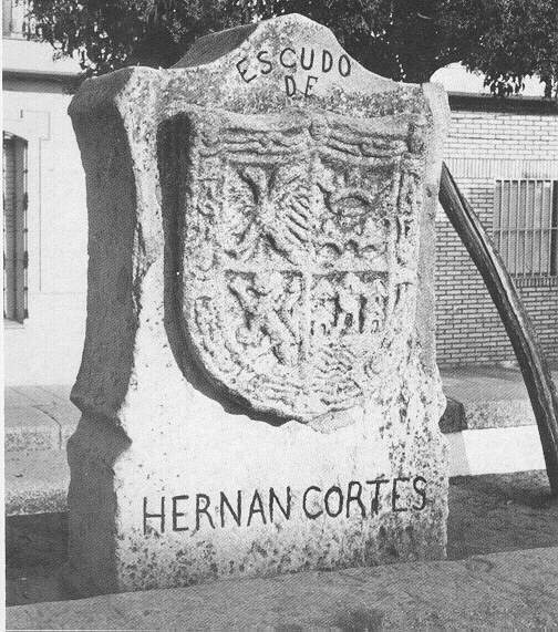
M 435 85 L 285 15 L 84 82 L 82 594 L 443 558 Z

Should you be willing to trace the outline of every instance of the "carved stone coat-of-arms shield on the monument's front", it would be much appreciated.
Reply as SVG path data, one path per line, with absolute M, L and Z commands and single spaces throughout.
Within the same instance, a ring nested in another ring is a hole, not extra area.
M 414 319 L 416 127 L 292 108 L 197 113 L 178 135 L 196 362 L 252 408 L 302 422 L 373 396 Z

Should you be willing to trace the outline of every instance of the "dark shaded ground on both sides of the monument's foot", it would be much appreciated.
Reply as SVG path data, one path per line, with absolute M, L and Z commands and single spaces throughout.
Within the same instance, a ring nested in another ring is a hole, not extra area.
M 66 545 L 65 514 L 8 518 L 7 605 L 69 599 L 60 581 Z M 448 559 L 556 546 L 558 498 L 545 472 L 451 480 Z

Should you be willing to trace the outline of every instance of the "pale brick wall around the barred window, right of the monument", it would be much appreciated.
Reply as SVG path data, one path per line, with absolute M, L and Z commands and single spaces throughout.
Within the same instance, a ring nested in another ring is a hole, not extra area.
M 558 115 L 454 111 L 445 151 L 459 188 L 492 234 L 496 178 L 558 179 Z M 440 364 L 515 360 L 498 313 L 442 208 L 437 216 Z M 558 279 L 518 290 L 546 356 L 558 362 Z

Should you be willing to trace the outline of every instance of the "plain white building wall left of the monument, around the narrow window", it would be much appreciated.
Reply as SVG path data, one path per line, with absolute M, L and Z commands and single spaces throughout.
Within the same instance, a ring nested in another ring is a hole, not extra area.
M 29 318 L 4 321 L 9 385 L 72 383 L 81 360 L 87 218 L 70 101 L 56 81 L 3 84 L 3 128 L 28 142 L 29 194 Z

